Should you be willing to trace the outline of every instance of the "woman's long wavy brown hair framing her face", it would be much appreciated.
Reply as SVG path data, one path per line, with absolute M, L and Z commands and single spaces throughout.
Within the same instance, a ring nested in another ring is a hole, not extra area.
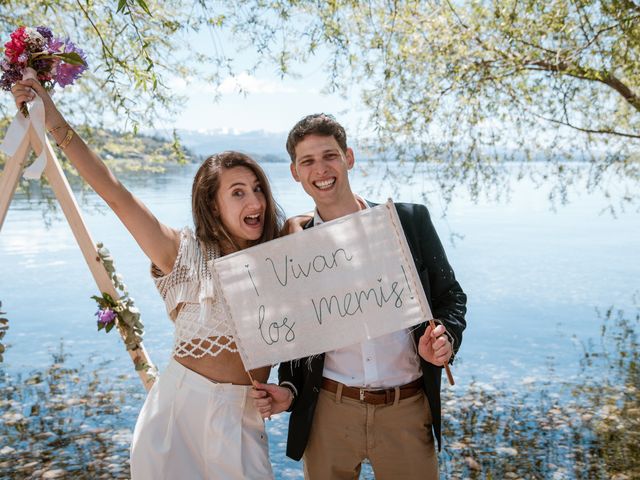
M 191 187 L 191 210 L 196 237 L 203 243 L 229 244 L 233 250 L 237 251 L 241 248 L 222 223 L 216 202 L 216 194 L 220 188 L 220 174 L 223 170 L 236 167 L 246 167 L 255 174 L 267 201 L 262 235 L 259 239 L 249 242 L 249 246 L 278 237 L 284 222 L 284 213 L 273 199 L 266 174 L 251 157 L 244 153 L 228 151 L 207 158 L 196 172 Z

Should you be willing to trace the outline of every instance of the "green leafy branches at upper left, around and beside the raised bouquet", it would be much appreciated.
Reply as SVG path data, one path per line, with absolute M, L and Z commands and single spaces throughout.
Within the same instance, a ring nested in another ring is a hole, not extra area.
M 73 38 L 84 50 L 91 72 L 56 103 L 93 126 L 105 114 L 118 122 L 111 128 L 127 131 L 174 118 L 184 102 L 179 92 L 169 88 L 170 80 L 189 75 L 204 78 L 223 56 L 206 45 L 183 48 L 194 28 L 206 27 L 204 7 L 194 10 L 190 0 L 51 0 L 46 8 L 42 3 L 13 2 L 15 15 L 0 14 L 0 31 L 13 31 L 19 18 L 20 24 L 47 25 L 56 35 Z M 207 61 L 196 62 L 202 52 Z M 69 61 L 79 59 L 72 56 Z M 0 116 L 8 115 L 11 108 L 8 100 L 0 102 Z

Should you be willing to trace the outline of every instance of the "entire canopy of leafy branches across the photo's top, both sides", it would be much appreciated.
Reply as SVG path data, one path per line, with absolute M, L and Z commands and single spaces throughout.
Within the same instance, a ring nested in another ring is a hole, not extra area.
M 93 78 L 81 87 L 89 95 L 75 105 L 87 115 L 111 109 L 137 125 L 175 109 L 172 79 L 216 82 L 234 73 L 220 41 L 232 35 L 235 47 L 258 53 L 253 68 L 267 63 L 282 75 L 326 56 L 328 90 L 361 95 L 372 144 L 394 158 L 441 163 L 445 193 L 459 184 L 477 193 L 494 183 L 504 159 L 543 159 L 565 180 L 565 160 L 587 160 L 591 186 L 602 187 L 607 172 L 631 179 L 627 199 L 640 181 L 633 0 L 4 5 L 3 35 L 16 18 L 47 23 L 91 51 Z M 206 30 L 204 50 L 188 44 Z

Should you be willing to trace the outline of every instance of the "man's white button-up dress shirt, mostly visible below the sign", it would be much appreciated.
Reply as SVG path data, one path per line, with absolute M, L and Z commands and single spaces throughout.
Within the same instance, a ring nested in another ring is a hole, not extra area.
M 361 208 L 369 208 L 361 197 L 356 199 Z M 323 222 L 316 209 L 314 225 Z M 323 375 L 351 387 L 392 388 L 420 378 L 422 372 L 413 335 L 405 328 L 327 352 Z

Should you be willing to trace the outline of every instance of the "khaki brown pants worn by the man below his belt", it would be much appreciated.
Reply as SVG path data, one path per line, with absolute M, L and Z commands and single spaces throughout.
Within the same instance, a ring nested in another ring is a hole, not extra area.
M 309 443 L 306 480 L 352 480 L 369 459 L 376 480 L 438 478 L 438 457 L 424 393 L 391 405 L 345 398 L 320 390 Z

